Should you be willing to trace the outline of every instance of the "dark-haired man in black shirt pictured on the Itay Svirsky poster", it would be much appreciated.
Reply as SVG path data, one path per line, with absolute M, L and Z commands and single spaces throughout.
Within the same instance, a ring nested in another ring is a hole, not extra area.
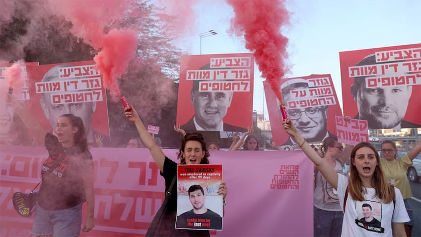
M 189 199 L 190 203 L 193 206 L 193 209 L 187 211 L 180 216 L 177 217 L 177 228 L 195 228 L 192 226 L 188 226 L 189 219 L 202 219 L 202 220 L 209 220 L 207 223 L 210 224 L 209 227 L 203 229 L 213 229 L 213 230 L 221 230 L 222 229 L 222 217 L 219 214 L 213 212 L 212 210 L 206 208 L 205 200 L 206 195 L 203 188 L 198 185 L 192 185 L 189 187 Z M 193 223 L 193 222 L 191 222 Z M 201 229 L 201 228 L 198 228 Z

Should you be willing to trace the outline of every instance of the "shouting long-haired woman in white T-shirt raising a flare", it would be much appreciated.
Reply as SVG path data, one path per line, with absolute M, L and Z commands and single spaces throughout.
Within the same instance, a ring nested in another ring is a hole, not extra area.
M 341 206 L 344 207 L 342 236 L 406 236 L 404 223 L 410 219 L 405 210 L 402 194 L 386 182 L 380 156 L 369 143 L 357 144 L 351 151 L 350 178 L 338 174 L 327 159 L 321 158 L 304 140 L 290 121 L 282 121 L 285 131 L 294 138 L 299 147 L 317 166 L 326 181 L 337 190 Z M 359 220 L 362 211 L 359 206 L 366 202 L 380 205 L 381 228 L 368 228 Z

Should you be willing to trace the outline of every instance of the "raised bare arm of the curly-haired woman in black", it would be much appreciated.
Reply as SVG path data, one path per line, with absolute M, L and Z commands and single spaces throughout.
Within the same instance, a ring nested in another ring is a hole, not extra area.
M 129 121 L 132 121 L 135 124 L 140 136 L 140 140 L 142 140 L 143 144 L 149 149 L 150 154 L 152 155 L 152 158 L 158 166 L 159 170 L 163 172 L 165 155 L 159 146 L 155 143 L 155 140 L 152 138 L 152 136 L 147 132 L 142 121 L 140 120 L 138 112 L 132 108 L 132 111 L 126 111 L 125 115 Z

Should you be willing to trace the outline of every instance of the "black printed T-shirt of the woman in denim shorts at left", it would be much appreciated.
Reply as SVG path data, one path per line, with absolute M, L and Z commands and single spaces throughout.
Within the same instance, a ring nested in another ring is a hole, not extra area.
M 49 157 L 42 165 L 38 204 L 46 210 L 63 210 L 84 202 L 85 191 L 81 174 L 93 173 L 90 152 L 80 152 L 76 147 L 63 148 L 58 141 L 46 144 L 46 148 Z M 62 156 L 64 158 L 60 164 L 53 171 L 49 170 Z

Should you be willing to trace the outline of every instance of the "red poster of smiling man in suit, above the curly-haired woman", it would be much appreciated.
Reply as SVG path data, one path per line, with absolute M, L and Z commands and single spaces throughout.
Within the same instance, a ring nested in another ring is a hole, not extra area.
M 188 132 L 247 131 L 253 75 L 251 53 L 182 56 L 176 122 Z

